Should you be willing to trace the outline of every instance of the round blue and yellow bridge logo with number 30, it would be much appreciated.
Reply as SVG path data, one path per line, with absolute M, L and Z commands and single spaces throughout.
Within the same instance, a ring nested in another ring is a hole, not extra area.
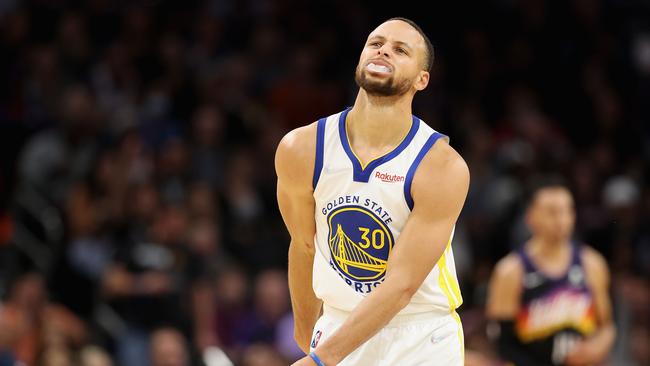
M 330 265 L 357 292 L 369 293 L 386 273 L 393 234 L 372 211 L 343 206 L 330 212 Z

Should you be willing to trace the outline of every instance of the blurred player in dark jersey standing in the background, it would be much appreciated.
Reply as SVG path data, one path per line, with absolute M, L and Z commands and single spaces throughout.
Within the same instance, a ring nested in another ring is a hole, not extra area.
M 573 198 L 546 185 L 526 214 L 532 238 L 497 263 L 487 316 L 499 354 L 516 365 L 592 365 L 614 342 L 609 272 L 595 250 L 571 240 Z

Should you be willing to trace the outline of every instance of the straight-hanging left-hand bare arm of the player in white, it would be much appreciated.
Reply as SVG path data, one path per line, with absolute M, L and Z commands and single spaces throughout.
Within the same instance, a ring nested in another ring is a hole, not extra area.
M 312 189 L 315 152 L 316 124 L 312 123 L 289 132 L 275 155 L 278 205 L 291 236 L 288 275 L 294 336 L 305 353 L 309 352 L 311 331 L 322 305 L 311 285 L 316 232 Z

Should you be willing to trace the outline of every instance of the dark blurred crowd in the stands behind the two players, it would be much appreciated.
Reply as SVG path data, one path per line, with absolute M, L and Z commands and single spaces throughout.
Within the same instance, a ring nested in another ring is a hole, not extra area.
M 368 33 L 436 47 L 414 114 L 472 182 L 454 252 L 468 347 L 525 197 L 563 177 L 612 271 L 612 365 L 650 364 L 650 3 L 0 1 L 0 365 L 286 365 L 284 133 L 351 105 Z M 426 9 L 426 10 L 425 10 Z

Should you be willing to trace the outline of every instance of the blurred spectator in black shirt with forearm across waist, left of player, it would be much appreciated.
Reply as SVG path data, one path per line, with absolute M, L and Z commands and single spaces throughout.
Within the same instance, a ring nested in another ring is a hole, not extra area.
M 184 241 L 187 212 L 183 206 L 162 207 L 143 240 L 126 238 L 105 272 L 103 284 L 108 304 L 125 322 L 125 333 L 116 335 L 117 357 L 121 365 L 148 362 L 148 334 L 170 324 L 191 335 L 209 325 L 202 319 L 202 307 L 193 307 L 200 296 L 202 262 Z M 193 311 L 196 310 L 196 311 Z

